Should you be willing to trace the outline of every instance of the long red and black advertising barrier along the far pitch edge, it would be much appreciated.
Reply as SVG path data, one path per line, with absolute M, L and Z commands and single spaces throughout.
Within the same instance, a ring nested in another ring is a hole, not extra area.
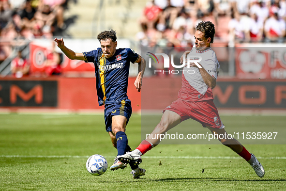
M 127 95 L 133 111 L 163 110 L 178 97 L 181 78 L 144 78 L 142 92 L 129 79 Z M 104 110 L 98 105 L 95 78 L 3 78 L 0 108 L 53 108 Z M 218 79 L 213 89 L 218 108 L 286 109 L 284 80 Z M 141 104 L 143 108 L 141 108 Z

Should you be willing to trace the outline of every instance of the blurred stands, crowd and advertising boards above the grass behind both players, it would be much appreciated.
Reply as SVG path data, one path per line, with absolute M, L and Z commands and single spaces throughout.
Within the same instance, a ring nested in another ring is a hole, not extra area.
M 0 0 L 0 14 L 0 111 L 103 110 L 94 98 L 93 64 L 69 60 L 55 37 L 83 52 L 99 47 L 97 34 L 112 28 L 119 47 L 138 53 L 142 47 L 180 49 L 193 46 L 202 20 L 216 28 L 217 107 L 258 113 L 286 109 L 286 0 Z M 164 88 L 172 95 L 166 100 L 176 99 L 180 75 L 154 75 L 152 69 L 146 69 L 144 85 L 153 84 L 158 92 Z M 136 73 L 132 65 L 131 82 Z M 162 78 L 172 83 L 155 86 Z M 131 82 L 128 94 L 134 111 L 140 111 Z

